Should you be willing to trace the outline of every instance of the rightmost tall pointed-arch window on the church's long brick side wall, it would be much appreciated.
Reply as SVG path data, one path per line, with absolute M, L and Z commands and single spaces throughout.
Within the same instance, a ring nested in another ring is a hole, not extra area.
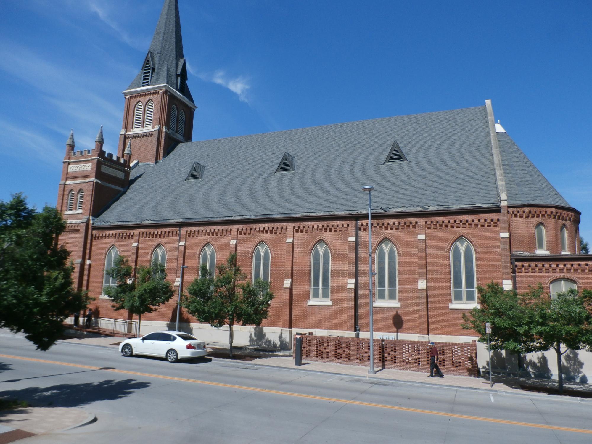
M 452 302 L 477 303 L 475 292 L 475 250 L 464 237 L 450 250 Z

